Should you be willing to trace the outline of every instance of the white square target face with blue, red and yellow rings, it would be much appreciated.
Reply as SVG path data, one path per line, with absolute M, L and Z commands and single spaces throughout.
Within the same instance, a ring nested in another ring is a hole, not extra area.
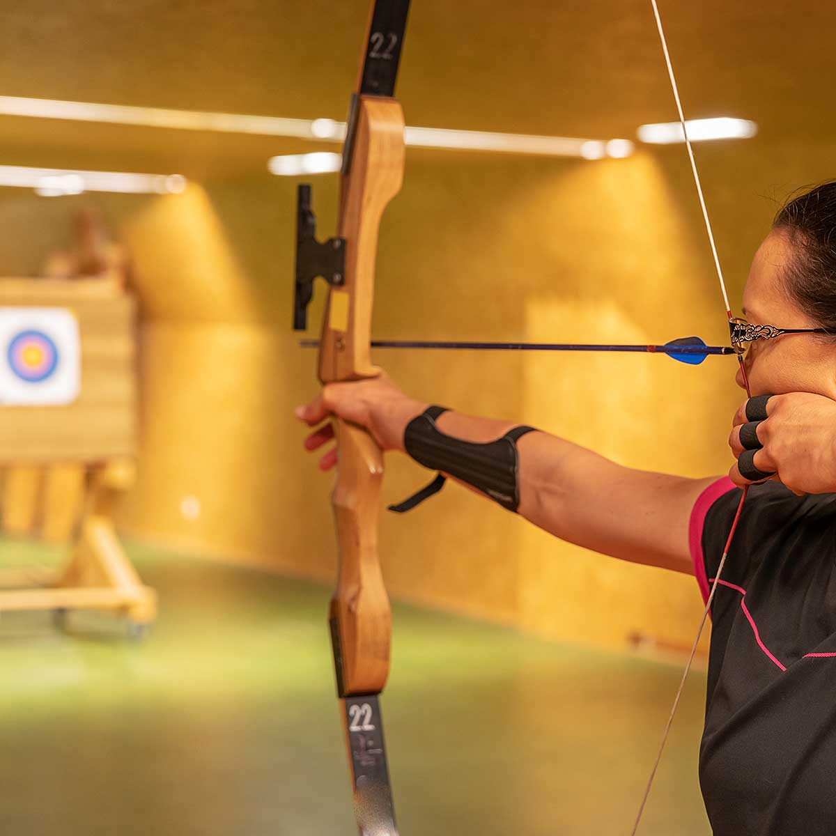
M 79 326 L 64 308 L 0 308 L 0 404 L 69 404 L 81 383 Z

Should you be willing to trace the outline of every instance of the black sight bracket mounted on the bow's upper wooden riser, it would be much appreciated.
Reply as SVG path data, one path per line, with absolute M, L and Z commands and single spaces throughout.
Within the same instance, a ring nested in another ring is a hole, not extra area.
M 293 293 L 293 330 L 308 327 L 308 304 L 314 279 L 321 276 L 332 287 L 345 283 L 345 239 L 316 240 L 316 215 L 311 209 L 311 186 L 300 183 L 296 196 L 296 284 Z

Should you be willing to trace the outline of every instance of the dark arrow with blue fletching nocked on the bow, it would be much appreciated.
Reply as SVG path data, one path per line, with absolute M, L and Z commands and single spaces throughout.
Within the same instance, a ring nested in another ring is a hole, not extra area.
M 319 348 L 319 339 L 299 341 L 303 349 Z M 727 345 L 706 345 L 699 337 L 671 339 L 664 345 L 604 345 L 584 343 L 495 343 L 450 340 L 373 339 L 373 349 L 456 349 L 472 351 L 628 351 L 667 354 L 680 363 L 699 365 L 709 354 L 737 354 Z

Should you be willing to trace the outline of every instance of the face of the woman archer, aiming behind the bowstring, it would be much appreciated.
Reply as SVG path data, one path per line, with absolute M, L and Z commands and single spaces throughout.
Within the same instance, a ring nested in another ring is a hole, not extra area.
M 785 232 L 770 232 L 752 259 L 743 316 L 754 325 L 816 328 L 784 290 L 783 268 L 793 255 Z M 811 392 L 836 398 L 836 343 L 818 334 L 782 334 L 752 342 L 745 359 L 752 395 Z M 737 385 L 743 385 L 740 370 Z

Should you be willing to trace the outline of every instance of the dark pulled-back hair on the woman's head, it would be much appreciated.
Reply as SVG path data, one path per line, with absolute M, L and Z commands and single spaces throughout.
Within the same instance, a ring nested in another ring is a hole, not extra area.
M 836 181 L 790 199 L 772 229 L 787 233 L 793 246 L 784 269 L 789 297 L 820 327 L 836 328 Z

